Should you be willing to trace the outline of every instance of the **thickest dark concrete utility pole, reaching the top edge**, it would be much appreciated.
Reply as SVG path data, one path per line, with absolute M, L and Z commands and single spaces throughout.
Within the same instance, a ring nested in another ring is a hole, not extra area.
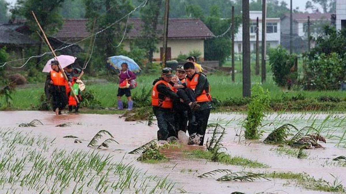
M 243 97 L 251 97 L 249 10 L 249 0 L 243 0 Z

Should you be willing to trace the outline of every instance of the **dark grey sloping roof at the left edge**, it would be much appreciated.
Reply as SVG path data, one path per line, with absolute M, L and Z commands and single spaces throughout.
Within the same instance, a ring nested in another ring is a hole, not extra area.
M 33 46 L 37 42 L 7 26 L 0 26 L 0 45 Z

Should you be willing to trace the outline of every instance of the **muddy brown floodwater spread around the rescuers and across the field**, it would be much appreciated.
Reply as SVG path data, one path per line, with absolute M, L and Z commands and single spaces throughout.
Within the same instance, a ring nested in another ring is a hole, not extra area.
M 294 115 L 296 115 L 296 117 L 294 117 Z M 319 119 L 316 120 L 323 121 L 327 116 L 328 115 L 321 114 L 318 117 Z M 340 114 L 337 116 L 342 117 L 345 115 Z M 244 118 L 245 115 L 243 114 L 212 114 L 210 116 L 210 122 L 217 119 L 224 119 L 222 122 L 231 120 L 226 127 L 227 134 L 224 138 L 224 146 L 227 148 L 227 153 L 231 156 L 242 156 L 257 160 L 258 162 L 269 165 L 269 168 L 249 168 L 207 162 L 203 159 L 189 159 L 182 157 L 179 151 L 174 150 L 171 153 L 167 153 L 171 158 L 169 162 L 159 164 L 143 164 L 137 162 L 136 158 L 138 155 L 126 153 L 155 139 L 157 126 L 147 126 L 145 122 L 125 122 L 124 119 L 119 118 L 119 115 L 70 114 L 55 116 L 53 112 L 48 111 L 0 111 L 0 127 L 16 128 L 16 130 L 29 131 L 33 134 L 56 138 L 54 146 L 57 148 L 65 148 L 67 150 L 81 149 L 84 151 L 93 149 L 86 145 L 95 133 L 101 129 L 107 129 L 115 136 L 119 145 L 112 144 L 109 149 L 104 149 L 100 152 L 113 154 L 113 160 L 120 161 L 124 157 L 124 161 L 133 163 L 136 167 L 143 171 L 147 171 L 148 174 L 161 177 L 168 175 L 169 180 L 176 182 L 177 185 L 182 187 L 187 193 L 231 193 L 235 191 L 243 193 L 328 193 L 306 190 L 295 184 L 287 184 L 290 183 L 290 181 L 279 179 L 254 182 L 217 182 L 215 178 L 201 179 L 197 177 L 202 173 L 220 168 L 231 169 L 232 171 L 242 171 L 245 169 L 245 171 L 252 172 L 304 172 L 316 179 L 323 178 L 329 182 L 334 181 L 334 178 L 330 175 L 332 174 L 338 177 L 338 180 L 342 181 L 344 185 L 346 184 L 346 167 L 332 165 L 331 163 L 332 158 L 346 155 L 346 149 L 336 147 L 335 143 L 328 143 L 327 140 L 327 144 L 323 144 L 326 149 L 307 150 L 309 153 L 307 159 L 297 159 L 287 155 L 278 155 L 270 151 L 271 148 L 275 148 L 276 146 L 249 142 L 243 139 L 239 141 L 239 137 L 236 136 L 236 134 L 240 133 L 242 129 L 240 121 Z M 279 120 L 282 123 L 289 123 L 290 120 L 293 120 L 293 123 L 305 126 L 310 122 L 309 118 L 311 118 L 311 115 L 302 116 L 302 114 L 298 113 L 281 115 L 281 117 L 273 114 L 266 118 L 266 122 Z M 39 125 L 37 127 L 18 127 L 20 123 L 28 123 L 33 119 L 39 119 L 44 125 Z M 278 123 L 280 123 L 279 121 Z M 58 124 L 66 122 L 70 122 L 71 126 L 55 127 Z M 268 130 L 270 130 L 270 128 L 271 127 L 267 127 Z M 63 138 L 67 135 L 79 137 L 82 143 L 75 144 L 73 143 L 73 139 Z M 207 135 L 210 137 L 211 134 Z M 264 137 L 266 137 L 266 135 L 264 135 Z M 330 141 L 333 142 L 333 140 Z M 188 147 L 186 149 L 194 148 Z

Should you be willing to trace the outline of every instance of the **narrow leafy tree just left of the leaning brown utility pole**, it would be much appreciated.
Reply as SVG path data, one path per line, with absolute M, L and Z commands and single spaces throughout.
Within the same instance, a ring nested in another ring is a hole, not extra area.
M 162 0 L 148 0 L 147 5 L 140 10 L 140 18 L 143 21 L 143 34 L 138 42 L 141 48 L 147 50 L 149 62 L 153 61 L 153 53 L 157 51 L 156 44 L 159 43 L 157 36 L 157 24 L 159 22 Z

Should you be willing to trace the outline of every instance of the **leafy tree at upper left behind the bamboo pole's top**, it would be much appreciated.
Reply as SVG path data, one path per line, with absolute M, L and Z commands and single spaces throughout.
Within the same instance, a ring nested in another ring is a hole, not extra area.
M 46 34 L 52 35 L 63 24 L 63 18 L 60 13 L 60 8 L 63 3 L 64 0 L 18 0 L 16 7 L 11 10 L 14 17 L 22 16 L 26 19 L 29 29 L 34 32 L 33 36 L 39 40 L 38 54 L 42 53 L 42 39 L 36 35 L 35 31 L 38 30 L 38 26 L 31 11 L 34 11 L 37 20 Z M 39 62 L 40 58 L 37 58 L 36 68 L 39 68 Z

